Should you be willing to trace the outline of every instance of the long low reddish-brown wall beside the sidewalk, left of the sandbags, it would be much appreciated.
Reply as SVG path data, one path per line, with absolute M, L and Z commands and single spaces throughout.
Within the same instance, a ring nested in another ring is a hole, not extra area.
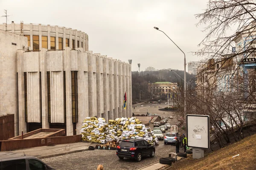
M 36 138 L 36 139 L 5 140 L 5 141 L 0 141 L 1 143 L 0 151 L 17 150 L 17 149 L 47 146 L 47 145 L 53 145 L 53 144 L 67 144 L 67 143 L 75 143 L 80 141 L 81 141 L 81 135 L 57 136 L 57 137 Z

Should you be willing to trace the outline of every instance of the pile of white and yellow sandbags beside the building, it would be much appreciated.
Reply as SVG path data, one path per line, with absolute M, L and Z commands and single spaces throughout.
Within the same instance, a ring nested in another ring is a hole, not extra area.
M 135 117 L 109 120 L 108 124 L 105 123 L 104 118 L 87 117 L 84 119 L 81 134 L 82 140 L 88 142 L 106 143 L 128 138 L 145 139 L 149 144 L 154 145 L 158 142 L 153 131 Z

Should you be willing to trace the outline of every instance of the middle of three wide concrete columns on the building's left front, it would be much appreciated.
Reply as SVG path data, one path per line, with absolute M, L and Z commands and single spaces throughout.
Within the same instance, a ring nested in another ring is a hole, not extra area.
M 39 33 L 40 34 L 40 33 Z M 41 68 L 41 103 L 42 103 L 42 128 L 49 128 L 48 121 L 48 87 L 47 87 L 47 60 L 46 50 L 41 48 L 39 52 L 39 64 Z

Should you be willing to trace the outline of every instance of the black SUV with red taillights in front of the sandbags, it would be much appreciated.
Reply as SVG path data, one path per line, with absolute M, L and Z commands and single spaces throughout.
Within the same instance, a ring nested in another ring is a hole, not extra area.
M 139 162 L 142 156 L 154 157 L 155 147 L 144 139 L 124 139 L 117 146 L 116 155 L 119 159 L 133 158 Z

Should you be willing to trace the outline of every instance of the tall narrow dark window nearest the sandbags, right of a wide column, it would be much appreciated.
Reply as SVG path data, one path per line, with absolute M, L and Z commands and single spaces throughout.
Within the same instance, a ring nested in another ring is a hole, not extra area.
M 72 122 L 78 122 L 77 71 L 71 71 L 72 86 Z

